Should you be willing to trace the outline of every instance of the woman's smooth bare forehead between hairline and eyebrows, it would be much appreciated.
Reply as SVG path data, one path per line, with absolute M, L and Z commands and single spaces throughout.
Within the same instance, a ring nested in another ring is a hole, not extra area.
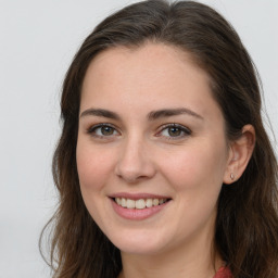
M 116 47 L 101 52 L 90 63 L 80 105 L 156 110 L 189 104 L 199 113 L 206 113 L 207 104 L 217 106 L 210 83 L 210 76 L 192 56 L 175 47 Z

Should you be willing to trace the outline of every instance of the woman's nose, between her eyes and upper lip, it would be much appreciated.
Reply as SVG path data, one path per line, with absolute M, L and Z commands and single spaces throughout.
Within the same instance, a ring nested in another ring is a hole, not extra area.
M 155 165 L 147 143 L 138 138 L 123 143 L 115 174 L 128 184 L 137 184 L 152 178 L 155 175 Z

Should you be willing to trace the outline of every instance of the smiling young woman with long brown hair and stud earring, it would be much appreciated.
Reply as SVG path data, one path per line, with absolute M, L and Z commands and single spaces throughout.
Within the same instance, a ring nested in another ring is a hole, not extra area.
M 256 71 L 218 13 L 150 0 L 109 16 L 61 108 L 54 277 L 278 277 Z

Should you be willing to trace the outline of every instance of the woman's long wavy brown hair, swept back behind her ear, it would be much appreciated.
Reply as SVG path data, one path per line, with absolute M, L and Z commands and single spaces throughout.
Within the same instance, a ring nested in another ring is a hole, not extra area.
M 219 194 L 215 247 L 235 278 L 277 278 L 277 161 L 262 123 L 254 64 L 235 29 L 213 9 L 194 1 L 162 0 L 135 3 L 105 18 L 84 41 L 65 76 L 63 129 L 53 156 L 60 200 L 46 226 L 52 227 L 54 277 L 112 278 L 122 269 L 119 250 L 94 224 L 80 194 L 76 167 L 80 91 L 98 53 L 147 41 L 178 47 L 208 73 L 229 140 L 240 136 L 244 125 L 254 126 L 256 144 L 245 172 L 231 186 L 223 185 Z

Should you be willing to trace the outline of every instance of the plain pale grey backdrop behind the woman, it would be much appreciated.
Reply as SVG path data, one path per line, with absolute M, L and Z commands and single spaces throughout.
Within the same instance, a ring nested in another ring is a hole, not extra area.
M 131 2 L 0 0 L 0 278 L 50 277 L 38 239 L 56 203 L 51 157 L 60 134 L 61 84 L 96 24 Z M 202 2 L 241 36 L 261 73 L 277 136 L 278 1 Z

